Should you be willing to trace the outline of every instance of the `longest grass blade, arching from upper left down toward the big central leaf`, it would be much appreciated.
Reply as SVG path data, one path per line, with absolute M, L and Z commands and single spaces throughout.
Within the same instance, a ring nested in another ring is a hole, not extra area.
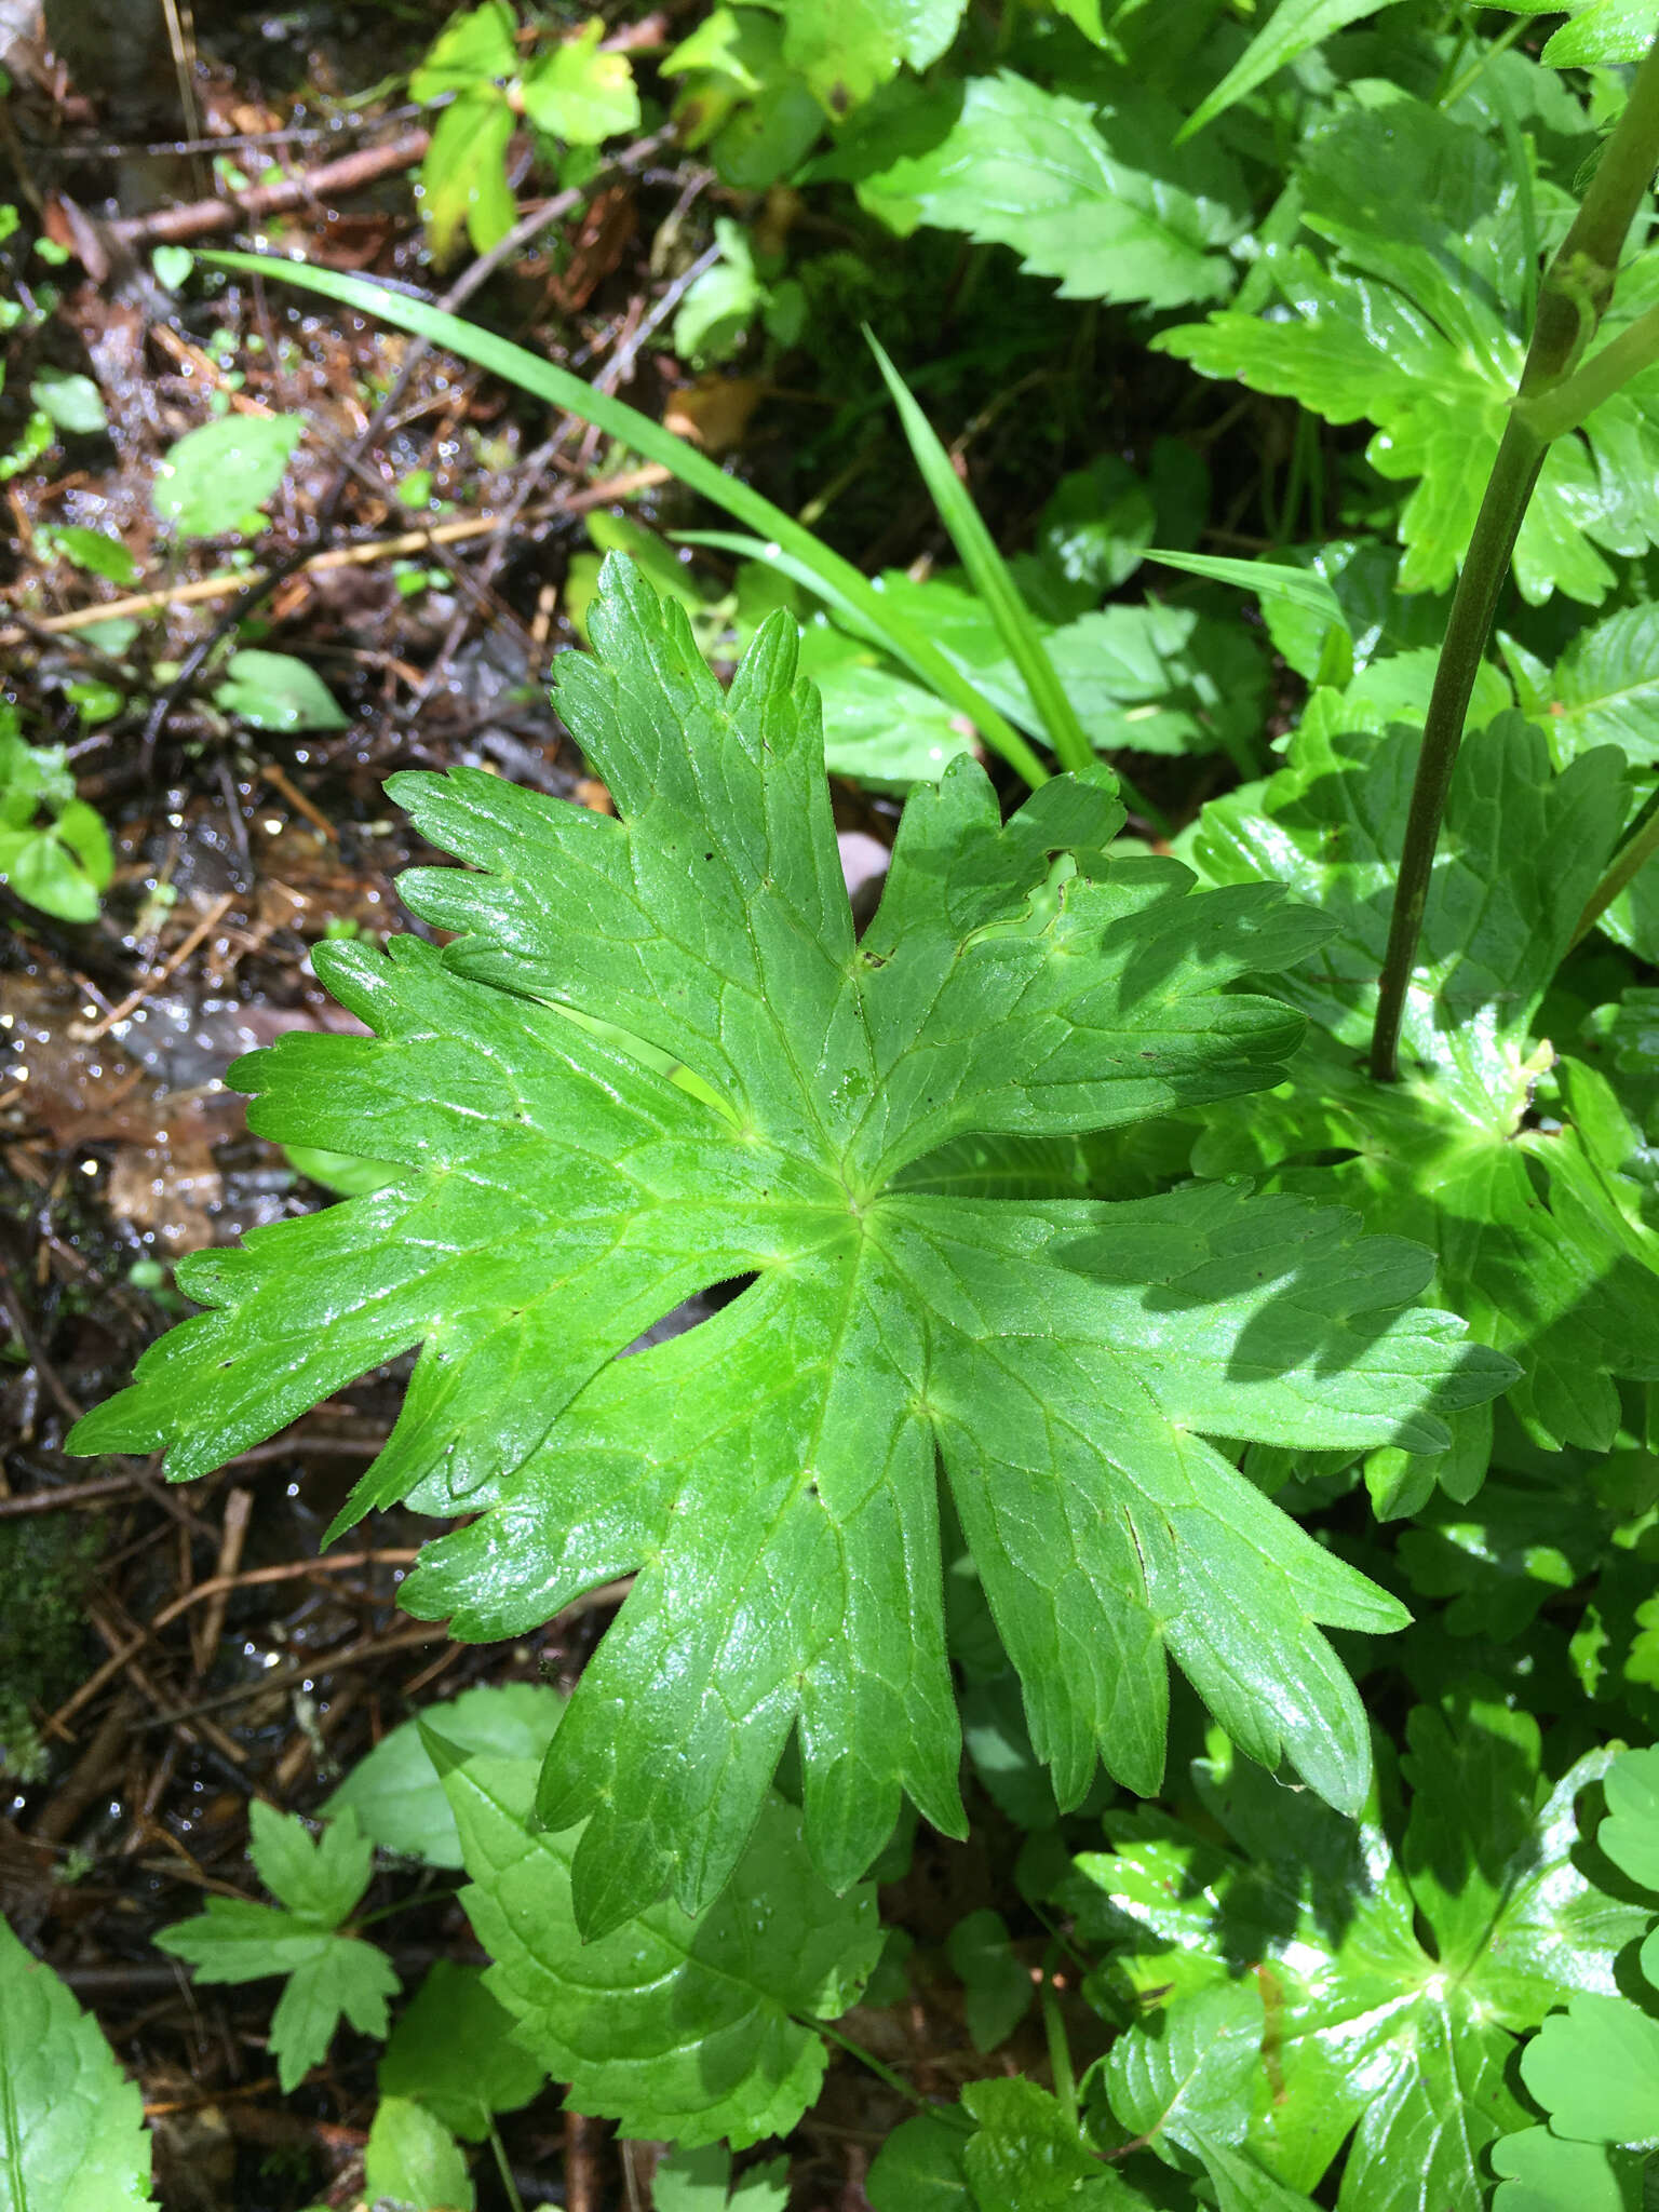
M 243 270 L 250 276 L 292 283 L 305 292 L 321 292 L 325 299 L 336 299 L 347 307 L 358 307 L 363 314 L 374 314 L 383 323 L 392 323 L 394 330 L 409 330 L 420 338 L 429 338 L 434 345 L 442 345 L 445 352 L 471 361 L 473 367 L 507 378 L 520 392 L 562 407 L 582 422 L 597 425 L 635 453 L 644 453 L 646 460 L 659 460 L 684 484 L 690 484 L 692 491 L 699 491 L 714 507 L 723 507 L 728 515 L 737 515 L 739 522 L 745 522 L 761 538 L 794 555 L 821 597 L 830 604 L 854 608 L 872 624 L 894 659 L 902 661 L 940 699 L 967 714 L 984 743 L 993 752 L 1000 752 L 1009 768 L 1018 770 L 1026 783 L 1035 787 L 1048 781 L 1048 770 L 1013 723 L 945 659 L 922 630 L 894 615 L 883 595 L 869 584 L 869 577 L 860 575 L 838 553 L 832 553 L 794 515 L 785 515 L 781 507 L 774 507 L 741 478 L 728 476 L 706 453 L 699 453 L 695 445 L 677 438 L 661 422 L 653 422 L 637 407 L 595 392 L 580 376 L 573 376 L 553 361 L 542 361 L 522 345 L 513 345 L 511 338 L 498 338 L 491 330 L 478 330 L 478 325 L 465 323 L 456 314 L 445 314 L 442 307 L 434 307 L 425 299 L 411 299 L 407 292 L 389 292 L 367 276 L 347 276 L 343 270 L 314 270 L 303 261 L 285 261 L 276 254 L 204 252 L 197 259 L 212 261 L 217 268 Z M 1093 754 L 1088 759 L 1093 761 Z

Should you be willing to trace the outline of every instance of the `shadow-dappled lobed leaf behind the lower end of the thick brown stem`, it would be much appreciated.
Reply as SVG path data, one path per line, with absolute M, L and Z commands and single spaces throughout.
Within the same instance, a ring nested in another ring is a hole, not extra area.
M 1338 712 L 1310 712 L 1281 774 L 1203 814 L 1194 856 L 1214 883 L 1287 883 L 1336 936 L 1283 982 L 1316 1024 L 1292 1084 L 1248 1115 L 1221 1108 L 1194 1164 L 1272 1170 L 1276 1188 L 1340 1199 L 1433 1245 L 1436 1294 L 1520 1360 L 1511 1407 L 1535 1440 L 1606 1451 L 1621 1420 L 1615 1378 L 1659 1374 L 1659 1239 L 1626 1214 L 1575 1121 L 1533 1128 L 1528 1108 L 1551 1066 L 1533 1020 L 1619 841 L 1624 761 L 1599 748 L 1557 774 L 1515 714 L 1464 741 L 1405 1079 L 1378 1086 L 1363 1062 L 1418 737 L 1343 732 Z M 1458 1427 L 1440 1473 L 1469 1498 L 1486 1467 L 1482 1413 Z M 1405 1511 L 1429 1475 L 1387 1458 L 1374 1493 Z

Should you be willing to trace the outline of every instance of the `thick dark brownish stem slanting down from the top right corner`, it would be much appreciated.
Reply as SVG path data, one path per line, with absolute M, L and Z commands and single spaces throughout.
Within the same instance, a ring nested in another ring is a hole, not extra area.
M 1533 343 L 1526 349 L 1526 367 L 1520 378 L 1520 400 L 1535 400 L 1553 392 L 1577 367 L 1613 299 L 1619 252 L 1655 168 L 1659 168 L 1659 38 L 1637 71 L 1630 100 L 1606 144 L 1584 206 L 1544 274 Z M 1515 409 L 1498 447 L 1451 602 L 1422 726 L 1422 752 L 1411 787 L 1411 814 L 1400 852 L 1389 947 L 1376 1000 L 1371 1075 L 1380 1084 L 1398 1082 L 1400 1075 L 1400 1022 L 1418 958 L 1422 909 L 1429 900 L 1433 852 L 1447 812 L 1451 772 L 1458 763 L 1469 699 L 1498 613 L 1498 595 L 1509 577 L 1515 538 L 1546 451 L 1548 438 Z

